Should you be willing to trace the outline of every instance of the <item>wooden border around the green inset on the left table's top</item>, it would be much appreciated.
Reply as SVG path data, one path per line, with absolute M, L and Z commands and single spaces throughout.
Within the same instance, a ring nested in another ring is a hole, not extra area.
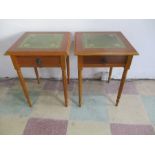
M 18 48 L 24 39 L 31 34 L 64 34 L 61 47 L 59 49 L 52 48 Z M 14 56 L 62 56 L 69 55 L 70 48 L 70 32 L 25 32 L 5 53 L 5 55 Z

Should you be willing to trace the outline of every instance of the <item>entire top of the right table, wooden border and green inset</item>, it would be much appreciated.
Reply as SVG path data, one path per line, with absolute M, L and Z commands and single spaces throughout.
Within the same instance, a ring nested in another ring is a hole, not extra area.
M 77 32 L 76 55 L 137 55 L 121 32 Z

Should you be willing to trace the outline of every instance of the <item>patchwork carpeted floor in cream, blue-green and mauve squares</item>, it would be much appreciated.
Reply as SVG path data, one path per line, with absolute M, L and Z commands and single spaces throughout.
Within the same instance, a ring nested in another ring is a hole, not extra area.
M 118 107 L 119 81 L 83 81 L 83 105 L 78 107 L 78 81 L 69 85 L 64 107 L 62 81 L 26 80 L 29 108 L 17 79 L 0 80 L 0 134 L 155 134 L 155 80 L 126 82 Z

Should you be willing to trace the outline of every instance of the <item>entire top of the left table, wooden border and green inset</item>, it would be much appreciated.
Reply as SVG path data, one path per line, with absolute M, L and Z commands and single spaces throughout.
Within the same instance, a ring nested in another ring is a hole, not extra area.
M 7 55 L 69 54 L 69 32 L 26 32 L 6 52 Z

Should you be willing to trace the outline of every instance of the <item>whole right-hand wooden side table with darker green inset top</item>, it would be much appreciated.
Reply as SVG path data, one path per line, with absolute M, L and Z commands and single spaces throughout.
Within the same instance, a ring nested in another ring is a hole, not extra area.
M 75 55 L 78 56 L 79 106 L 82 103 L 82 69 L 84 67 L 124 67 L 117 95 L 116 106 L 122 94 L 124 82 L 132 58 L 137 51 L 121 32 L 77 32 L 75 33 Z

